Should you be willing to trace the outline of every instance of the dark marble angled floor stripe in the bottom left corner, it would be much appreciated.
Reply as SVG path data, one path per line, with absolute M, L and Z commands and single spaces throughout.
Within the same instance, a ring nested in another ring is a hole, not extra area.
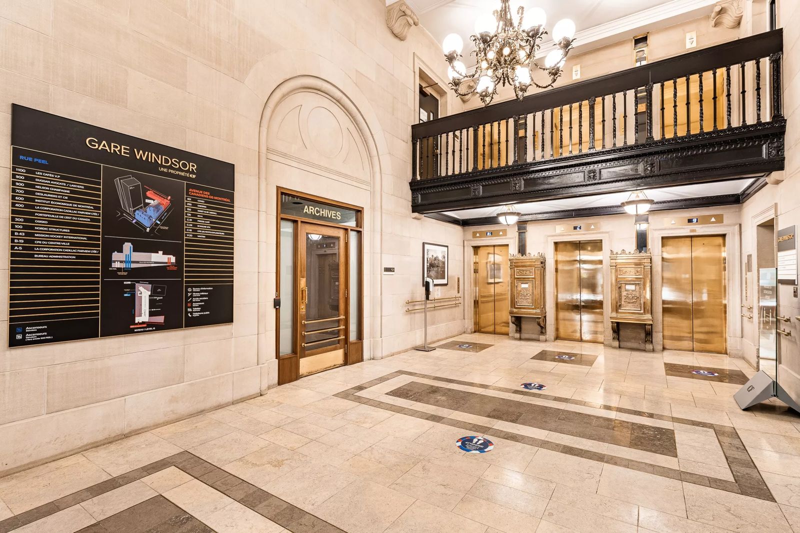
M 29 523 L 46 518 L 67 507 L 86 502 L 106 492 L 133 483 L 151 474 L 156 474 L 169 467 L 176 467 L 190 475 L 192 478 L 205 483 L 207 486 L 230 499 L 241 503 L 243 506 L 257 512 L 259 515 L 272 520 L 279 526 L 292 533 L 344 533 L 338 527 L 327 523 L 325 520 L 311 515 L 307 511 L 271 495 L 269 492 L 256 487 L 237 476 L 230 474 L 222 468 L 215 467 L 204 459 L 200 459 L 188 451 L 181 451 L 164 459 L 150 463 L 144 467 L 136 468 L 125 474 L 95 483 L 70 495 L 55 499 L 38 507 L 25 511 L 19 515 L 11 516 L 0 521 L 0 533 L 8 533 Z M 133 506 L 132 506 L 133 507 Z M 130 508 L 130 507 L 129 507 Z M 120 511 L 124 512 L 124 511 Z M 109 517 L 110 518 L 110 517 Z

